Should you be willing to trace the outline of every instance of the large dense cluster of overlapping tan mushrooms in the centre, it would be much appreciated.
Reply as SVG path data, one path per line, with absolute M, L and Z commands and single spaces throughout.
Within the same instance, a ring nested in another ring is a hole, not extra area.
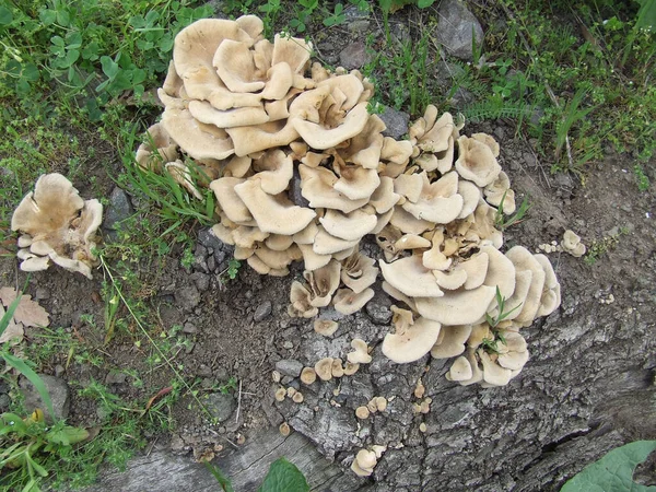
M 262 27 L 253 15 L 209 19 L 176 36 L 159 91 L 165 110 L 139 163 L 195 195 L 208 185 L 213 232 L 257 272 L 286 276 L 303 261 L 291 316 L 356 312 L 380 270 L 383 289 L 407 307 L 394 306 L 385 355 L 460 356 L 453 380 L 506 384 L 528 359 L 518 329 L 555 309 L 560 285 L 546 257 L 501 251 L 495 224 L 514 213 L 515 196 L 497 142 L 460 136 L 464 122 L 432 105 L 407 140 L 384 137 L 359 71 L 311 66 L 309 43 L 271 43 Z M 189 157 L 204 181 L 191 179 Z M 360 250 L 370 234 L 385 256 L 379 269 Z

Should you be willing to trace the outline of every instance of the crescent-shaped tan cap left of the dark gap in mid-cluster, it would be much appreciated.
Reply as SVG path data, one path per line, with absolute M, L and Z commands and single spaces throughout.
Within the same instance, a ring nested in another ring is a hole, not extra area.
M 292 235 L 305 229 L 316 216 L 314 210 L 294 206 L 283 195 L 267 194 L 256 178 L 236 185 L 234 190 L 263 232 Z

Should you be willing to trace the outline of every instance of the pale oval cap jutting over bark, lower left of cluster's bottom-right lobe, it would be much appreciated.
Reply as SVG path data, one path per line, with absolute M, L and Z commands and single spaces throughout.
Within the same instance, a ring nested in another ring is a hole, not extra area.
M 383 340 L 383 353 L 398 364 L 414 362 L 431 351 L 440 336 L 442 325 L 427 318 L 418 318 L 414 324 L 397 328 Z

